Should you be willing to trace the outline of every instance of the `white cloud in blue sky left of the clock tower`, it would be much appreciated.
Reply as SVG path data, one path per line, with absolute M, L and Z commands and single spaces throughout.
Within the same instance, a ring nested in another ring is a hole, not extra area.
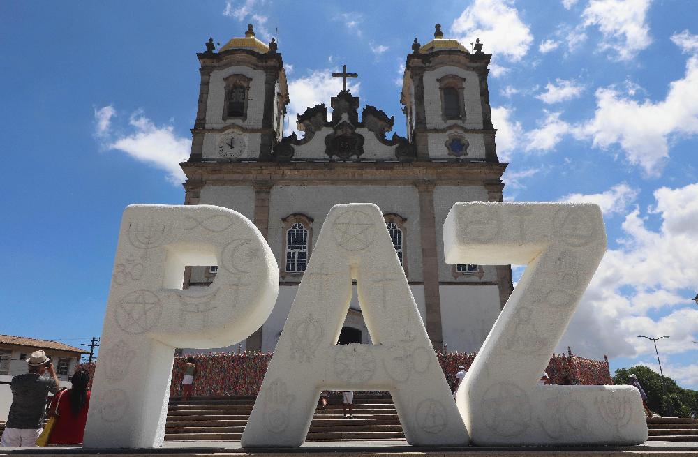
M 187 160 L 191 149 L 191 140 L 179 137 L 172 126 L 156 126 L 142 112 L 131 114 L 128 119 L 129 133 L 108 135 L 108 130 L 100 130 L 101 121 L 106 119 L 104 113 L 114 116 L 113 107 L 107 106 L 95 111 L 97 121 L 96 134 L 103 138 L 103 147 L 124 152 L 140 162 L 154 165 L 168 172 L 168 180 L 174 184 L 184 182 L 184 172 L 179 163 Z M 100 133 L 101 132 L 101 133 Z

